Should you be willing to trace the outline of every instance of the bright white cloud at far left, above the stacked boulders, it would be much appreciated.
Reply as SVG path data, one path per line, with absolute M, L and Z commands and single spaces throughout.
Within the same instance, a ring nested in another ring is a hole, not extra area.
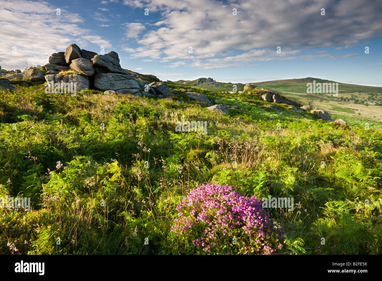
M 87 44 L 110 42 L 93 36 L 89 29 L 78 26 L 83 19 L 47 2 L 30 0 L 0 0 L 0 62 L 3 69 L 24 69 L 48 63 L 54 52 L 65 51 L 70 43 L 86 48 Z M 12 48 L 16 47 L 16 54 Z

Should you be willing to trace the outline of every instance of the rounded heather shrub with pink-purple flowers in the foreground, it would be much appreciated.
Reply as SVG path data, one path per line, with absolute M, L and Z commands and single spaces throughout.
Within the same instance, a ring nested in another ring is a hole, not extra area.
M 285 238 L 256 197 L 228 185 L 203 184 L 191 190 L 176 210 L 175 236 L 192 241 L 196 253 L 272 254 Z

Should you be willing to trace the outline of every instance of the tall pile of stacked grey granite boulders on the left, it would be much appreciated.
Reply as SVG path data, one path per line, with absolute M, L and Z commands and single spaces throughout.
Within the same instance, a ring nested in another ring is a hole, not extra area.
M 171 95 L 164 82 L 137 82 L 120 65 L 116 52 L 99 55 L 95 52 L 80 49 L 70 44 L 65 52 L 52 54 L 49 64 L 44 65 L 47 71 L 45 80 L 54 83 L 77 82 L 77 90 L 97 89 L 107 94 L 133 94 L 134 96 L 162 97 Z M 73 70 L 73 73 L 58 74 L 61 70 Z

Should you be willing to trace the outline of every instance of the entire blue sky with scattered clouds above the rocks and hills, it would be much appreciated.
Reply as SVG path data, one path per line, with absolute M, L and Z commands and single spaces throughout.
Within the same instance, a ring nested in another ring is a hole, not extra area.
M 382 86 L 381 14 L 382 0 L 0 0 L 0 65 L 44 65 L 76 43 L 163 81 Z

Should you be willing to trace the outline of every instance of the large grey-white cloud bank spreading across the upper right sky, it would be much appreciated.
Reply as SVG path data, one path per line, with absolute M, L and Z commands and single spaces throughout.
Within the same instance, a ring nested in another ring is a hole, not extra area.
M 190 60 L 191 65 L 202 63 L 203 67 L 214 67 L 214 62 L 209 66 L 208 62 L 198 60 L 217 59 L 216 67 L 229 67 L 232 66 L 228 63 L 230 52 L 243 53 L 230 62 L 237 66 L 248 65 L 248 57 L 263 61 L 291 60 L 302 58 L 297 55 L 301 50 L 350 47 L 382 35 L 382 21 L 376 12 L 382 9 L 382 1 L 368 5 L 358 0 L 285 0 L 277 5 L 273 1 L 257 0 L 125 0 L 123 3 L 161 13 L 160 21 L 151 25 L 153 30 L 140 37 L 142 30 L 127 36 L 140 44 L 134 57 L 153 58 L 151 54 L 155 52 L 162 62 Z M 321 16 L 322 7 L 330 8 L 331 15 Z M 238 16 L 232 15 L 233 8 L 237 8 Z M 193 54 L 188 54 L 190 46 Z M 298 51 L 265 58 L 253 54 L 253 50 L 264 52 L 277 46 Z M 307 55 L 306 59 L 311 57 L 315 56 Z M 176 67 L 176 62 L 168 67 Z

